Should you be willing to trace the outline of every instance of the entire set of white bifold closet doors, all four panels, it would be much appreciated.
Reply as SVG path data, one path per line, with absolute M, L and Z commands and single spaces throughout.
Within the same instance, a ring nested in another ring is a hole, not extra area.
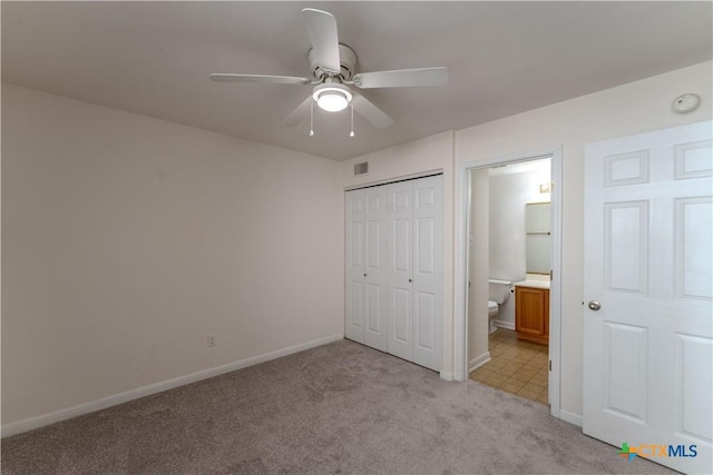
M 441 369 L 442 176 L 345 192 L 345 336 Z

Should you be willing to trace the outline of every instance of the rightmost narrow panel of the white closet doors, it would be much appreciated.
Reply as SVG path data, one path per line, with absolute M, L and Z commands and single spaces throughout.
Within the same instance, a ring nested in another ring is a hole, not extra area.
M 442 176 L 413 180 L 413 362 L 440 370 L 443 306 Z

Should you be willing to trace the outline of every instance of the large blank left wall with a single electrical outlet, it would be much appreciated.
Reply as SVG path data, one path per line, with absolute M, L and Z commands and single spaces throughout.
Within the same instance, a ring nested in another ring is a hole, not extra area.
M 2 119 L 3 425 L 343 335 L 341 164 L 11 85 Z

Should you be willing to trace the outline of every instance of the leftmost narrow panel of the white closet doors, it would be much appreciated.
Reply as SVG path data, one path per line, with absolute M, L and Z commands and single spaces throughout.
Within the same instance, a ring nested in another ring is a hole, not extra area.
M 346 239 L 344 336 L 359 343 L 364 343 L 367 321 L 364 215 L 364 190 L 346 191 L 344 194 L 344 216 L 346 218 L 344 232 Z

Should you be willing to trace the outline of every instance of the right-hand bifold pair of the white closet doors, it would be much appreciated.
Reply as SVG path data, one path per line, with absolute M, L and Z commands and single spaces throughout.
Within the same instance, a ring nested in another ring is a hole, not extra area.
M 388 187 L 388 352 L 441 369 L 442 176 Z

